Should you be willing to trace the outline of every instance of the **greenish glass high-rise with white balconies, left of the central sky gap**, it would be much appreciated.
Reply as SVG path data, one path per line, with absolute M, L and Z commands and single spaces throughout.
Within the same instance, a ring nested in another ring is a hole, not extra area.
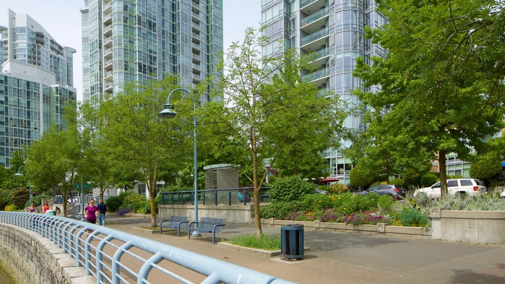
M 190 89 L 216 75 L 223 51 L 222 0 L 84 0 L 84 4 L 84 101 L 102 102 L 127 82 L 178 74 L 180 85 Z

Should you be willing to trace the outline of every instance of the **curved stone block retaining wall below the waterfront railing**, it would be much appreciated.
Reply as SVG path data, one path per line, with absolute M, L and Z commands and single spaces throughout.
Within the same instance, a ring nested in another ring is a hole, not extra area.
M 80 284 L 96 282 L 76 260 L 39 234 L 0 223 L 0 261 L 17 283 Z

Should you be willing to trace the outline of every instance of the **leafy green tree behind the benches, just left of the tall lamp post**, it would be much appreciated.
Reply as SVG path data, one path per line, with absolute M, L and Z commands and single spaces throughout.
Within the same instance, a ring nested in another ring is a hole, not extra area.
M 121 161 L 129 166 L 131 172 L 140 171 L 149 193 L 151 226 L 157 227 L 156 221 L 156 182 L 158 171 L 164 163 L 179 156 L 179 148 L 185 139 L 192 138 L 192 126 L 179 119 L 158 117 L 158 112 L 165 105 L 169 92 L 176 88 L 175 78 L 161 81 L 153 80 L 145 84 L 126 84 L 123 92 L 102 104 L 104 108 L 105 137 L 110 144 L 114 161 Z M 178 102 L 178 101 L 176 101 Z M 184 113 L 188 109 L 180 101 L 178 109 Z M 189 111 L 192 114 L 192 111 Z

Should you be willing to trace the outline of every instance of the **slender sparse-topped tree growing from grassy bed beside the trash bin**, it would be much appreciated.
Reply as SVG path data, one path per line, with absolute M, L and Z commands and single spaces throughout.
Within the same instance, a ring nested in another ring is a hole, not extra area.
M 278 161 L 311 163 L 315 153 L 338 147 L 345 118 L 338 98 L 321 96 L 301 79 L 306 62 L 294 51 L 262 57 L 258 47 L 270 39 L 259 34 L 248 28 L 243 43 L 233 43 L 225 53 L 220 67 L 227 72 L 222 72 L 219 91 L 226 96 L 219 94 L 227 104 L 209 110 L 225 137 L 239 145 L 235 151 L 248 155 L 257 236 L 262 233 L 259 193 L 267 171 Z

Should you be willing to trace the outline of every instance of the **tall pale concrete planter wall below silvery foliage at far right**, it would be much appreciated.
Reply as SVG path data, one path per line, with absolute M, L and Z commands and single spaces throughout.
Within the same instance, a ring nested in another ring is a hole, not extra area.
M 505 211 L 430 208 L 432 238 L 474 244 L 505 244 Z

